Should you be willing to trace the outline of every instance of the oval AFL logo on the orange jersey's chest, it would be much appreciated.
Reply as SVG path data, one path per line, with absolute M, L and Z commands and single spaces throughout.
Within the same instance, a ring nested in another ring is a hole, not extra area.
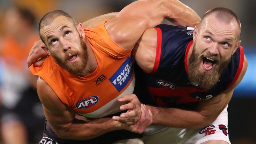
M 78 109 L 88 109 L 90 107 L 93 107 L 99 100 L 98 96 L 91 96 L 89 98 L 84 98 L 83 100 L 80 100 L 78 103 L 76 103 L 76 108 Z

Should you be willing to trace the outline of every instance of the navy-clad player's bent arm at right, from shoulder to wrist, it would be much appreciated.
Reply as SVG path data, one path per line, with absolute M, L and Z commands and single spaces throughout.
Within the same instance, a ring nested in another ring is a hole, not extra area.
M 247 60 L 244 59 L 242 72 L 236 83 L 228 90 L 222 92 L 215 98 L 199 103 L 196 111 L 176 108 L 160 108 L 147 105 L 153 114 L 153 124 L 196 129 L 211 124 L 223 111 L 230 101 L 234 88 L 239 84 L 247 69 Z

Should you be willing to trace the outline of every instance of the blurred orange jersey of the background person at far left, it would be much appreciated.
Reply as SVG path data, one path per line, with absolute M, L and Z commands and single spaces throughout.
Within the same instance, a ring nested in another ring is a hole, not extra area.
M 1 56 L 5 63 L 18 69 L 24 69 L 30 49 L 39 37 L 34 35 L 28 42 L 20 44 L 13 37 L 6 37 L 3 41 Z

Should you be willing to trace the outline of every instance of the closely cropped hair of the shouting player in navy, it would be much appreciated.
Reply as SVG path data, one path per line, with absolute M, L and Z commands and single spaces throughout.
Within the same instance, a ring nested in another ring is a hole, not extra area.
M 199 30 L 201 29 L 202 26 L 205 25 L 206 19 L 210 16 L 214 16 L 217 20 L 219 20 L 219 22 L 224 22 L 225 24 L 236 24 L 238 34 L 237 39 L 239 39 L 241 33 L 241 23 L 237 15 L 233 11 L 224 7 L 217 7 L 207 11 L 198 25 Z

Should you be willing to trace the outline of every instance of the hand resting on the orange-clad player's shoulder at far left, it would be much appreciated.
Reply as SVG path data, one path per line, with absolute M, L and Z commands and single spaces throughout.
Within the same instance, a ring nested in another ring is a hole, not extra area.
M 48 54 L 43 50 L 43 47 L 46 47 L 46 45 L 41 40 L 34 43 L 30 53 L 28 54 L 28 67 L 32 64 L 37 67 L 41 67 L 43 65 L 45 58 L 48 56 Z

